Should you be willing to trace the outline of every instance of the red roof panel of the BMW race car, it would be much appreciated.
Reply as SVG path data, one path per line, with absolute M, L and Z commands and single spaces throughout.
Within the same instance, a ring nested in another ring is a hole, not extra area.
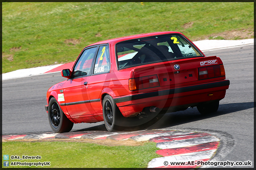
M 125 40 L 131 40 L 131 39 L 137 39 L 137 38 L 142 38 L 142 37 L 148 37 L 148 36 L 154 36 L 154 35 L 162 35 L 162 34 L 181 34 L 180 32 L 175 32 L 175 31 L 165 31 L 165 32 L 154 32 L 154 33 L 144 33 L 144 34 L 136 34 L 136 35 L 129 35 L 129 36 L 123 36 L 119 38 L 113 38 L 109 40 L 104 40 L 104 41 L 99 41 L 92 45 L 98 45 L 98 44 L 116 44 L 117 42 L 125 41 Z M 88 46 L 87 46 L 88 47 Z

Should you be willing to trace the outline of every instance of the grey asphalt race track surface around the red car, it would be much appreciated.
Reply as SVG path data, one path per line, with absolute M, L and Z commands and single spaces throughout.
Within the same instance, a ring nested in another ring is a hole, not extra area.
M 165 114 L 148 129 L 207 132 L 222 141 L 213 161 L 251 161 L 254 167 L 254 45 L 204 52 L 224 63 L 230 80 L 218 112 L 201 115 L 196 108 Z M 52 132 L 44 110 L 50 86 L 65 80 L 49 73 L 2 81 L 2 135 Z M 103 130 L 103 122 L 75 124 L 72 131 Z M 233 168 L 242 168 L 234 166 Z

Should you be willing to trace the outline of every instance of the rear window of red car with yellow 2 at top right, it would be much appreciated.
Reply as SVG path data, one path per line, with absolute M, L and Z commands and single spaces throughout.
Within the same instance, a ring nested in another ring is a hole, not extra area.
M 179 58 L 202 57 L 203 54 L 180 34 L 167 34 L 119 42 L 116 45 L 118 68 Z

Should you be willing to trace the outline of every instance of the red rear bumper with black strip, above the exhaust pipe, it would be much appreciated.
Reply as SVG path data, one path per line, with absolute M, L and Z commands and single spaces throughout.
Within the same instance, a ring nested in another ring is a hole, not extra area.
M 117 97 L 114 98 L 114 101 L 124 117 L 129 117 L 149 106 L 162 109 L 186 104 L 193 106 L 193 103 L 221 100 L 225 97 L 229 84 L 229 80 L 221 80 L 213 83 Z

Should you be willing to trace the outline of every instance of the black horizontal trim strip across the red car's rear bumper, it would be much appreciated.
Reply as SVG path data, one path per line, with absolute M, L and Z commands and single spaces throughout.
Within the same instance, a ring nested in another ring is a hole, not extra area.
M 177 94 L 177 93 L 194 91 L 194 90 L 209 89 L 209 88 L 213 88 L 213 87 L 228 86 L 229 84 L 230 84 L 230 81 L 225 80 L 225 81 L 208 83 L 208 84 L 200 84 L 200 85 L 194 85 L 194 86 L 188 86 L 188 87 L 179 87 L 179 88 L 175 88 L 175 89 L 153 91 L 153 92 L 148 92 L 148 93 L 144 93 L 144 94 L 135 94 L 135 95 L 130 95 L 130 96 L 126 96 L 126 97 L 115 98 L 114 102 L 121 103 L 121 102 L 138 100 L 138 99 L 143 99 L 143 98 L 148 98 L 148 97 L 164 96 L 164 95 L 171 95 L 171 94 Z

